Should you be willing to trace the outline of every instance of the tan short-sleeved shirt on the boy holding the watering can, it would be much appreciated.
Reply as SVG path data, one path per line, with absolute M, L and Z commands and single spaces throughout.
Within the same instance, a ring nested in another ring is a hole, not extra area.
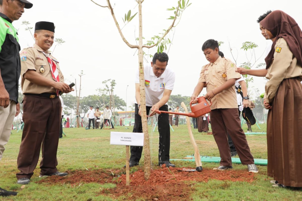
M 207 84 L 207 92 L 210 92 L 226 83 L 229 79 L 238 80 L 241 76 L 235 71 L 236 65 L 226 58 L 217 58 L 214 63 L 209 63 L 201 68 L 199 82 Z M 217 108 L 238 108 L 235 86 L 217 94 L 211 100 L 211 110 Z

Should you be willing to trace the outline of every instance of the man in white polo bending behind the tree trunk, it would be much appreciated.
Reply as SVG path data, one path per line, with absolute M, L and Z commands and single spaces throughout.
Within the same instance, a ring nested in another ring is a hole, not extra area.
M 144 66 L 145 92 L 146 92 L 146 111 L 149 116 L 155 114 L 155 109 L 168 111 L 166 104 L 170 98 L 174 87 L 175 73 L 171 68 L 166 68 L 169 57 L 165 52 L 155 53 L 151 65 Z M 142 120 L 140 110 L 140 80 L 139 71 L 136 72 L 135 78 L 135 116 L 133 133 L 142 133 Z M 175 167 L 170 163 L 170 126 L 169 114 L 160 114 L 158 116 L 159 130 L 159 154 L 158 164 L 165 164 L 167 167 Z M 130 167 L 138 165 L 143 147 L 131 146 Z

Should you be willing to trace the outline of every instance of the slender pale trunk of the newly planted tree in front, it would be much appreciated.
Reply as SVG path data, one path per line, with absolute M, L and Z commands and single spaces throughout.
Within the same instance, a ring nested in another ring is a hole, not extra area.
M 143 65 L 143 21 L 142 21 L 142 2 L 138 2 L 139 11 L 139 48 L 138 48 L 138 65 L 140 72 L 140 109 L 142 114 L 142 126 L 144 135 L 144 177 L 148 180 L 151 172 L 151 158 L 150 158 L 150 142 L 146 114 L 146 96 L 145 96 L 145 78 Z

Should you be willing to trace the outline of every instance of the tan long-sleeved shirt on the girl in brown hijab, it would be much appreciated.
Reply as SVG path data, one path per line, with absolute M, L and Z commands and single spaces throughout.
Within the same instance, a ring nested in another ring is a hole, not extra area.
M 265 84 L 265 98 L 270 104 L 273 102 L 282 80 L 292 77 L 302 80 L 302 67 L 293 57 L 293 53 L 283 38 L 279 38 L 276 42 L 274 58 L 265 77 L 269 79 Z

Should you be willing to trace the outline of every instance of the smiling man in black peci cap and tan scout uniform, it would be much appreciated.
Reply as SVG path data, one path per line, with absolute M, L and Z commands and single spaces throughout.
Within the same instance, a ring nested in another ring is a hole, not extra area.
M 40 177 L 59 175 L 56 153 L 61 120 L 59 91 L 73 91 L 64 83 L 59 61 L 50 55 L 55 26 L 52 22 L 37 22 L 35 44 L 21 51 L 21 87 L 24 128 L 18 155 L 18 184 L 28 184 L 37 166 L 42 144 Z

